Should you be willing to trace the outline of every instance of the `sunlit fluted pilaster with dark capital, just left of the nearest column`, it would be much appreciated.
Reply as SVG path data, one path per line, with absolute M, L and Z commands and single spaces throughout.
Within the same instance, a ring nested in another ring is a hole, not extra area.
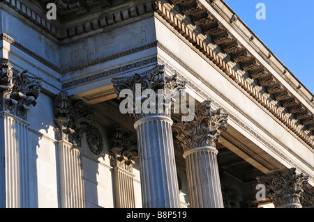
M 116 127 L 109 141 L 116 207 L 135 208 L 133 164 L 138 160 L 136 135 L 126 134 Z

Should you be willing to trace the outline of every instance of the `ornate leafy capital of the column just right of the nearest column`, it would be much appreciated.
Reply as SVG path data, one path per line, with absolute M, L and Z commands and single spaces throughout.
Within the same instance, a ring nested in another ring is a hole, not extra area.
M 221 131 L 227 130 L 227 117 L 221 109 L 212 110 L 211 101 L 205 100 L 195 106 L 195 113 L 189 116 L 174 114 L 172 129 L 178 133 L 177 142 L 184 151 L 207 146 L 216 148 Z

